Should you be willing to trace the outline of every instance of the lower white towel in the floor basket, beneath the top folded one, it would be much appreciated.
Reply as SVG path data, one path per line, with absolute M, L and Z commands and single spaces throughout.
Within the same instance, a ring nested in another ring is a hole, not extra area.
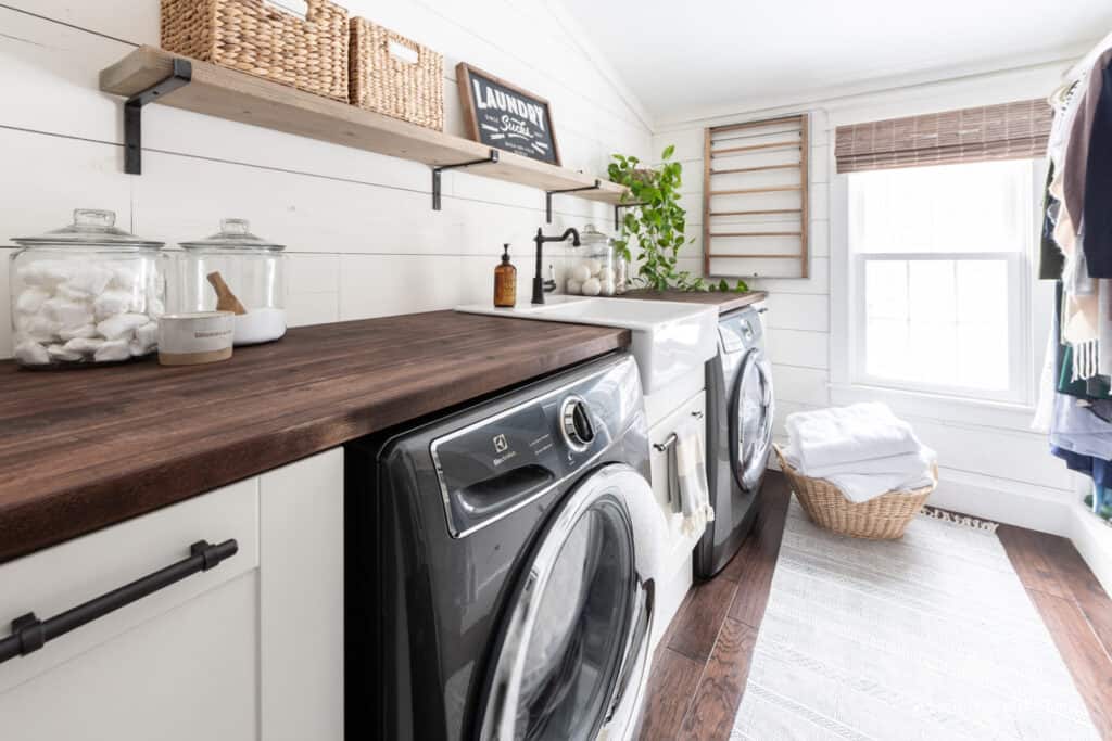
M 792 468 L 803 473 L 794 449 L 788 447 L 784 451 L 784 458 Z M 825 479 L 837 487 L 851 502 L 861 503 L 890 491 L 912 491 L 934 485 L 937 483 L 934 479 L 936 460 L 933 450 L 920 445 L 914 453 L 828 465 L 808 470 L 805 475 Z

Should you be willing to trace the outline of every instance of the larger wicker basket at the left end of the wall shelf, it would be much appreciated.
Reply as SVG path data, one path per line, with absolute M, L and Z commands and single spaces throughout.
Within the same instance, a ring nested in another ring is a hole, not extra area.
M 328 0 L 300 0 L 301 18 L 298 4 L 162 0 L 162 48 L 346 102 L 348 12 Z

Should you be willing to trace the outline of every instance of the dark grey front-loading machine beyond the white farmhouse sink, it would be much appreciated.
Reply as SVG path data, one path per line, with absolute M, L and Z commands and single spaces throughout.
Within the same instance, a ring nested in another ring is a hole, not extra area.
M 757 513 L 775 414 L 764 311 L 758 303 L 722 314 L 718 353 L 706 364 L 707 484 L 715 519 L 695 547 L 699 580 L 729 562 Z

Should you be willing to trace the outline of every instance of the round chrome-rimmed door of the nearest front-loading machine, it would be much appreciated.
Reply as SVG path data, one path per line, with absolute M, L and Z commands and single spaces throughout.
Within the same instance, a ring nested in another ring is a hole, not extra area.
M 647 679 L 655 569 L 638 543 L 663 534 L 654 514 L 662 517 L 648 482 L 623 464 L 568 494 L 496 639 L 480 739 L 632 733 Z

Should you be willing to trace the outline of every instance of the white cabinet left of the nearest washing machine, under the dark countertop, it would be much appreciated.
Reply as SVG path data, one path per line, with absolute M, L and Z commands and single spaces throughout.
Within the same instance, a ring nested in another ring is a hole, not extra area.
M 190 555 L 238 552 L 0 663 L 0 738 L 339 739 L 342 451 L 0 565 L 0 638 Z

